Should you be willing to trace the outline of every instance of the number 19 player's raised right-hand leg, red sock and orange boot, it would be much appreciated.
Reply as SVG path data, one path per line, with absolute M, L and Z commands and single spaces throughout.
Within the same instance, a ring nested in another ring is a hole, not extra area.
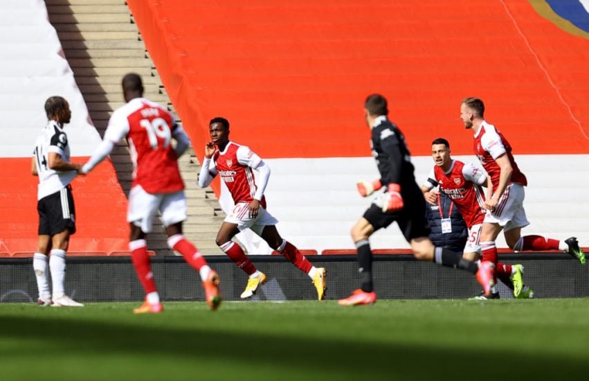
M 211 269 L 199 249 L 187 240 L 182 233 L 182 222 L 176 222 L 165 227 L 167 245 L 170 249 L 178 251 L 184 260 L 193 269 L 199 272 L 205 291 L 205 300 L 211 310 L 217 310 L 221 305 L 221 293 L 219 292 L 219 274 Z

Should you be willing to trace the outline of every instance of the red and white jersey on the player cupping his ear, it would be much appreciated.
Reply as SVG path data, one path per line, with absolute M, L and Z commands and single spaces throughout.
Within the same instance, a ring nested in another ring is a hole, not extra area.
M 262 159 L 249 147 L 230 141 L 223 152 L 217 150 L 212 155 L 209 171 L 221 175 L 233 202 L 251 202 L 257 190 L 253 169 L 260 165 Z M 260 205 L 266 208 L 266 197 L 262 196 Z

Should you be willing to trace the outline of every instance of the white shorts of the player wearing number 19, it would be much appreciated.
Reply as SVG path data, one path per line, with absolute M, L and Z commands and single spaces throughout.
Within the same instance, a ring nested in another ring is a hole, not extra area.
M 141 227 L 143 233 L 152 231 L 152 224 L 157 211 L 161 213 L 164 227 L 186 220 L 186 197 L 183 190 L 174 193 L 147 193 L 141 185 L 136 185 L 129 192 L 127 222 Z

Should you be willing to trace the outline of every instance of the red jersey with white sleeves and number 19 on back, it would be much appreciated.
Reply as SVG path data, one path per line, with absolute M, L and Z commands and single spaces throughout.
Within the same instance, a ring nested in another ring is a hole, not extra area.
M 184 188 L 171 144 L 175 128 L 172 114 L 145 98 L 132 99 L 113 113 L 105 139 L 118 142 L 127 136 L 134 163 L 132 186 L 141 185 L 152 194 Z

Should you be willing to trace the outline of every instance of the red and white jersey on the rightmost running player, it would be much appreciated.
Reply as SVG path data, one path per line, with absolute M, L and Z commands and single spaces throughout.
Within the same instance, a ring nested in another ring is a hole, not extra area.
M 511 154 L 511 145 L 505 136 L 495 128 L 494 125 L 483 121 L 480 129 L 474 135 L 474 152 L 478 159 L 482 163 L 482 168 L 487 171 L 491 177 L 493 183 L 493 190 L 496 190 L 499 186 L 499 175 L 501 170 L 497 165 L 495 159 L 500 157 L 502 154 L 507 154 L 507 158 L 511 163 L 511 167 L 514 171 L 511 173 L 511 182 L 527 185 L 527 179 L 525 175 L 520 171 L 514 155 Z

